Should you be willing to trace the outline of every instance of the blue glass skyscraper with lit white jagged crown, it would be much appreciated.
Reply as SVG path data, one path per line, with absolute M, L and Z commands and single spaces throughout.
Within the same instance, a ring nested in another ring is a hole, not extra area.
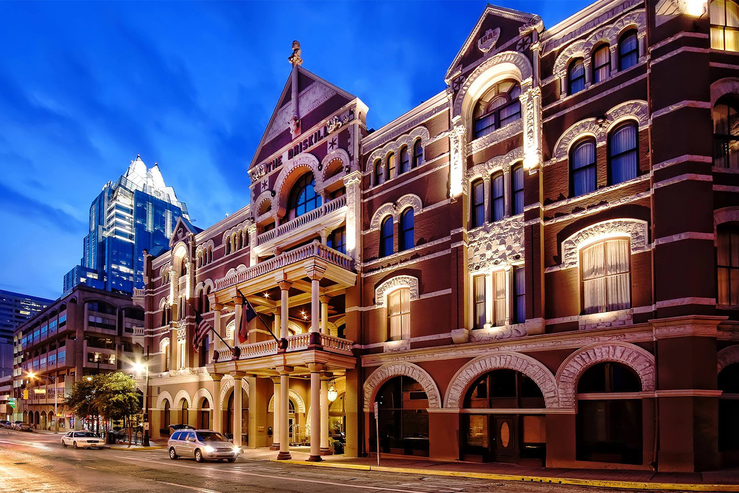
M 64 293 L 83 283 L 115 293 L 143 288 L 143 251 L 158 255 L 169 248 L 179 217 L 189 220 L 185 203 L 156 164 L 147 169 L 137 156 L 92 201 L 80 265 L 64 276 Z

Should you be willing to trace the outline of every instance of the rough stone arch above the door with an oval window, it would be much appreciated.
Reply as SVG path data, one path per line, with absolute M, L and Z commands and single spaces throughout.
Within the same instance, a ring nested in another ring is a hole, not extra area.
M 454 375 L 444 396 L 445 406 L 449 409 L 458 409 L 463 403 L 464 392 L 475 378 L 491 370 L 517 370 L 531 378 L 539 386 L 544 395 L 547 409 L 559 406 L 559 395 L 554 375 L 531 356 L 521 353 L 495 353 L 490 356 L 480 356 L 461 367 Z

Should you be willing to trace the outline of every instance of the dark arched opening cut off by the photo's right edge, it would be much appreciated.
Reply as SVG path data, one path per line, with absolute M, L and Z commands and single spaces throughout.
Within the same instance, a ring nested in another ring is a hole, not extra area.
M 726 365 L 718 374 L 718 451 L 723 466 L 739 465 L 739 362 Z

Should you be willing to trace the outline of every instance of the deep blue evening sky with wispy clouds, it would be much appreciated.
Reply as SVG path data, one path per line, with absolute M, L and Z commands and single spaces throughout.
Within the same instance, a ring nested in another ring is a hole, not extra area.
M 551 27 L 590 1 L 495 3 Z M 444 89 L 485 5 L 0 3 L 0 289 L 59 296 L 90 202 L 136 154 L 201 228 L 245 205 L 293 39 L 377 128 Z

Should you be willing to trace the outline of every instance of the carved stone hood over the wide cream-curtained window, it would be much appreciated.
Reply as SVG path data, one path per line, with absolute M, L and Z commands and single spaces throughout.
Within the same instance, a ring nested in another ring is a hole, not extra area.
M 579 265 L 580 250 L 597 239 L 630 237 L 631 254 L 637 254 L 649 247 L 649 225 L 639 219 L 612 219 L 584 228 L 562 242 L 562 268 Z

